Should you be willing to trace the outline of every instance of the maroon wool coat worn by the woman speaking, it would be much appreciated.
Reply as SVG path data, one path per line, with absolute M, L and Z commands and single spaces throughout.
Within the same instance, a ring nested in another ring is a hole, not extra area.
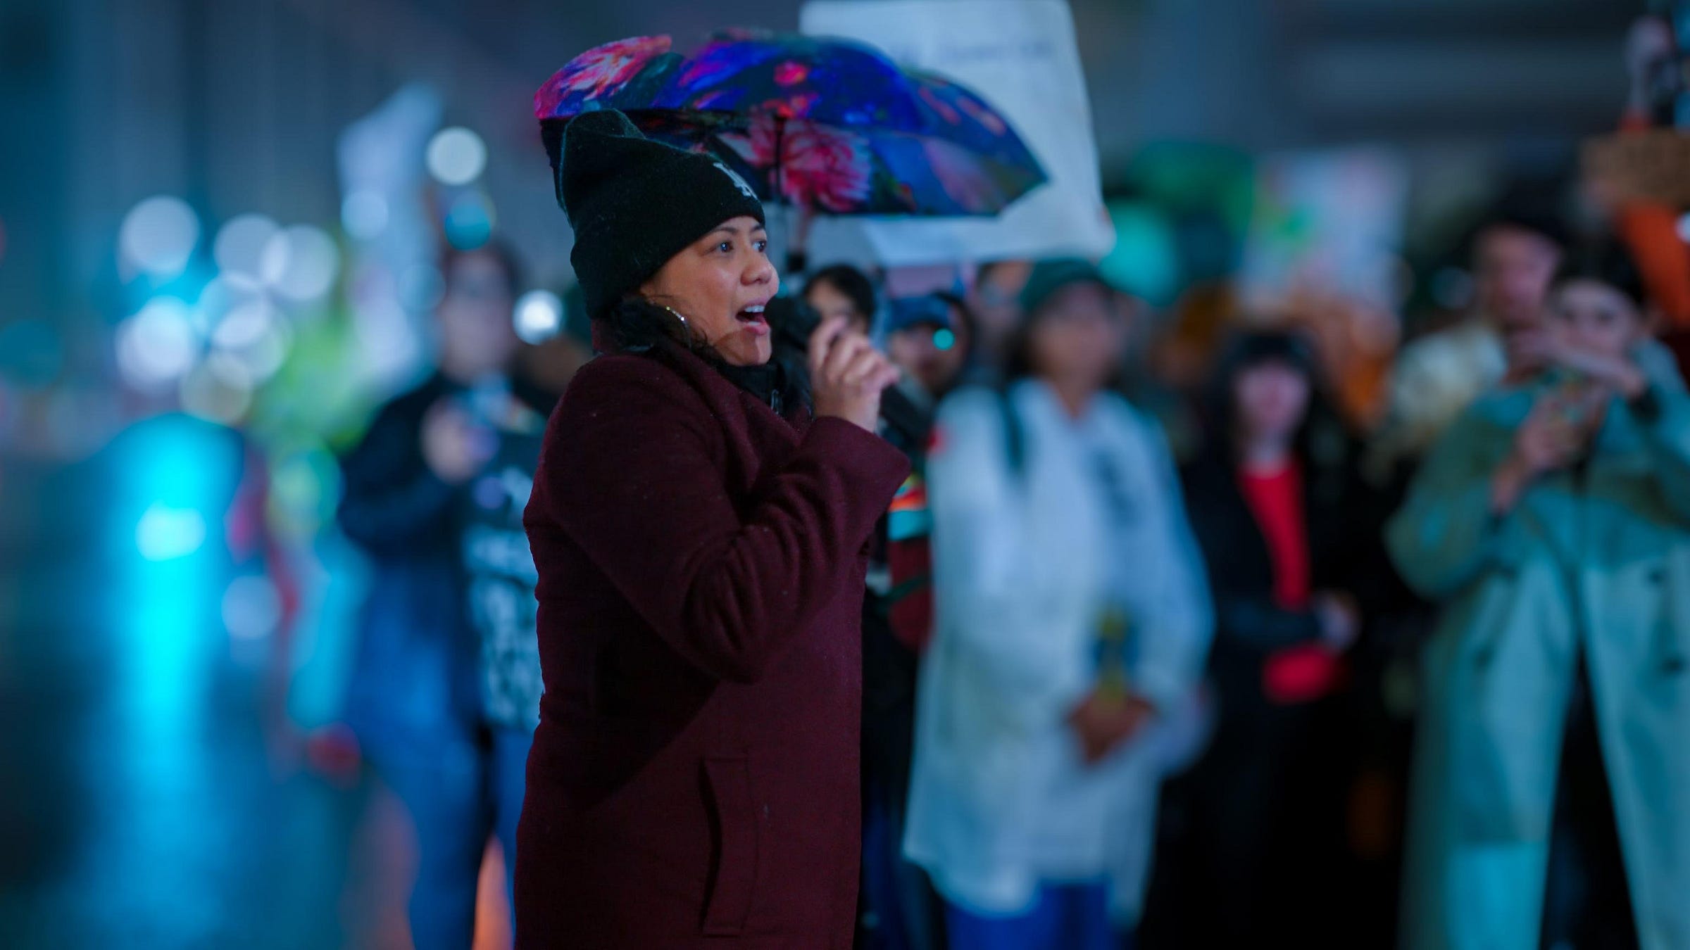
M 576 374 L 524 517 L 517 947 L 850 947 L 864 551 L 906 473 L 681 347 Z

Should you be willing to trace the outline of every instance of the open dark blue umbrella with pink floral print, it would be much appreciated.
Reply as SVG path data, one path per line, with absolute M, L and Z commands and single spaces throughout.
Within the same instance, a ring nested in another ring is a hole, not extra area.
M 977 95 L 838 39 L 733 30 L 683 57 L 669 37 L 634 37 L 583 52 L 534 93 L 549 140 L 595 108 L 713 152 L 764 199 L 803 211 L 995 215 L 1046 179 Z

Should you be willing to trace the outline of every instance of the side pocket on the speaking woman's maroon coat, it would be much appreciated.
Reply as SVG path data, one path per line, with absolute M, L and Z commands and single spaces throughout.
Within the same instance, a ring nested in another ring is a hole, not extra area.
M 745 930 L 757 889 L 759 822 L 744 756 L 705 759 L 710 800 L 713 867 L 705 903 L 705 935 L 733 936 Z

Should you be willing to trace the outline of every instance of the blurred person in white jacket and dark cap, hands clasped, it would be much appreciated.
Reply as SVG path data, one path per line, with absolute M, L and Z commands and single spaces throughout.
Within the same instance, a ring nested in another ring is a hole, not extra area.
M 1158 426 L 1107 390 L 1126 340 L 1092 265 L 1022 294 L 1006 390 L 965 389 L 928 456 L 935 639 L 923 661 L 908 857 L 953 948 L 1114 948 L 1137 906 L 1208 592 Z

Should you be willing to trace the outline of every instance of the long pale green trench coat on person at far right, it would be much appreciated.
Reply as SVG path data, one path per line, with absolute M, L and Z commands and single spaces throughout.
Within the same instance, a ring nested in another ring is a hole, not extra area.
M 1535 950 L 1575 651 L 1584 651 L 1644 950 L 1690 948 L 1690 397 L 1655 372 L 1589 465 L 1489 510 L 1545 384 L 1492 390 L 1438 441 L 1387 526 L 1443 603 L 1425 693 L 1404 947 Z

